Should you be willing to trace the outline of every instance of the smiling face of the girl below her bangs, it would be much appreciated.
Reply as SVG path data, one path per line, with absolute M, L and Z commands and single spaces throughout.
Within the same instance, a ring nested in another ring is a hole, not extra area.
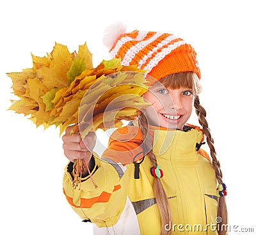
M 193 91 L 186 87 L 168 89 L 156 82 L 143 97 L 152 104 L 145 109 L 148 125 L 181 130 L 193 110 Z

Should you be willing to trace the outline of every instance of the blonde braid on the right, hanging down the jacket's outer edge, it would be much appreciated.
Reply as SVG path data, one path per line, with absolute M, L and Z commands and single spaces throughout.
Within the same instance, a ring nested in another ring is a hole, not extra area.
M 218 180 L 218 183 L 221 184 L 223 183 L 222 181 L 222 172 L 220 169 L 220 162 L 218 161 L 216 157 L 216 150 L 214 148 L 214 140 L 212 139 L 212 135 L 208 126 L 208 123 L 206 121 L 206 111 L 202 105 L 200 105 L 200 100 L 199 96 L 195 95 L 195 101 L 194 101 L 194 106 L 196 110 L 196 115 L 198 116 L 198 121 L 200 125 L 203 128 L 203 131 L 206 135 L 206 141 L 207 144 L 210 148 L 210 153 L 212 157 L 212 168 L 215 171 L 216 174 L 216 179 Z M 218 226 L 218 234 L 219 235 L 225 235 L 227 234 L 227 231 L 223 231 L 223 228 L 228 224 L 228 213 L 227 213 L 227 204 L 225 201 L 225 197 L 220 197 L 218 201 L 218 211 L 217 211 L 217 216 L 221 217 L 222 222 L 220 223 L 220 226 Z

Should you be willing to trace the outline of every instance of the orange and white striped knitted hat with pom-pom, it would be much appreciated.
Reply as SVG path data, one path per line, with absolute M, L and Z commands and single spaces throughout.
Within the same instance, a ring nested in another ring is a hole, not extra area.
M 119 23 L 106 29 L 103 42 L 111 57 L 120 58 L 122 65 L 136 65 L 157 80 L 189 71 L 201 77 L 195 50 L 173 34 L 139 30 L 125 33 Z

